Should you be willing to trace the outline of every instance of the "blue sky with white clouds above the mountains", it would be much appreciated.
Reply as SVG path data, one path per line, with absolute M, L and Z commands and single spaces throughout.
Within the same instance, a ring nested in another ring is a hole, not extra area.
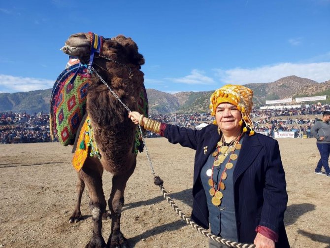
M 168 93 L 330 79 L 330 0 L 2 0 L 0 23 L 0 92 L 52 88 L 89 31 L 132 37 L 146 88 Z

